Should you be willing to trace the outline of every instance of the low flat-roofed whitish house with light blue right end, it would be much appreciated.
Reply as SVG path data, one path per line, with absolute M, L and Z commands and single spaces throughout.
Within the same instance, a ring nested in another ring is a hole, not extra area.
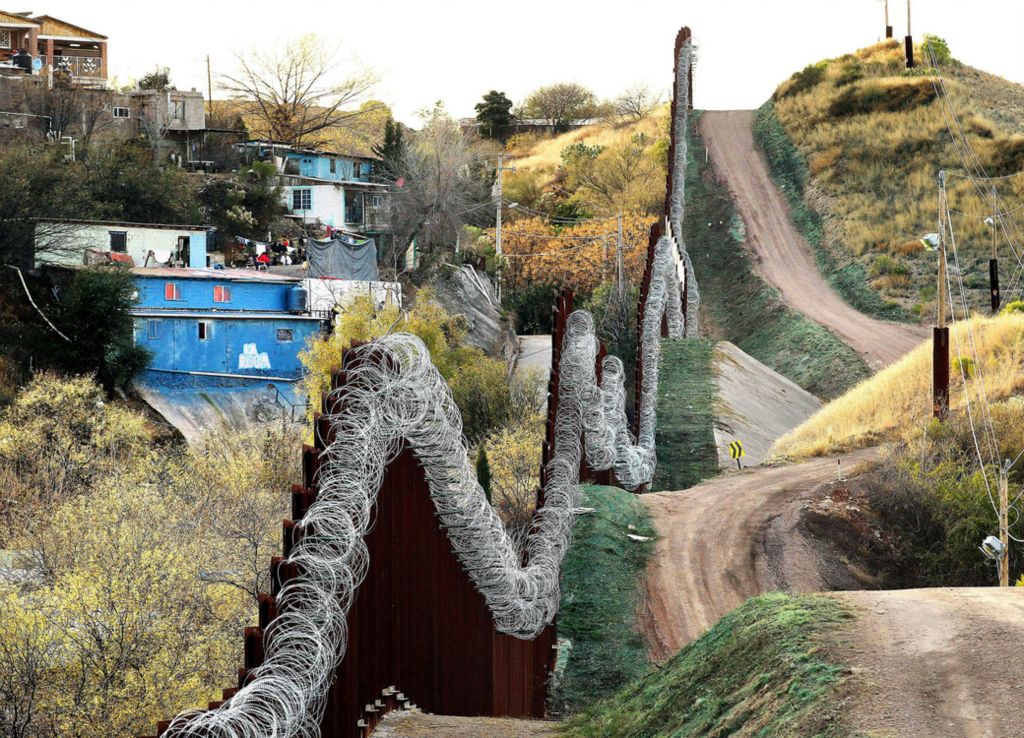
M 132 266 L 167 264 L 205 268 L 206 225 L 126 223 L 116 220 L 38 220 L 35 266 L 78 266 L 114 260 Z

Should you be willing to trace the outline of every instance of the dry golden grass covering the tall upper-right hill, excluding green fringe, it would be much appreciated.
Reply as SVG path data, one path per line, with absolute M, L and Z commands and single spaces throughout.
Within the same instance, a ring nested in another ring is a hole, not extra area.
M 963 169 L 948 134 L 942 102 L 932 80 L 903 76 L 902 50 L 887 42 L 829 59 L 817 84 L 800 91 L 796 80 L 775 95 L 775 114 L 807 161 L 809 198 L 825 214 L 825 245 L 840 264 L 858 261 L 870 268 L 880 255 L 896 255 L 908 279 L 876 285 L 887 298 L 927 314 L 931 305 L 920 293 L 930 284 L 932 259 L 908 248 L 934 231 L 938 220 L 937 173 Z M 990 174 L 1024 165 L 1024 142 L 1013 116 L 990 115 L 990 98 L 1022 100 L 1012 108 L 1024 118 L 1024 88 L 969 67 L 943 67 L 946 85 L 968 137 Z M 863 112 L 867 110 L 869 112 Z M 986 118 L 985 115 L 989 114 Z M 1024 177 L 997 182 L 1013 207 L 1024 198 Z M 953 227 L 975 306 L 987 301 L 990 234 L 984 218 L 991 204 L 969 180 L 948 180 Z

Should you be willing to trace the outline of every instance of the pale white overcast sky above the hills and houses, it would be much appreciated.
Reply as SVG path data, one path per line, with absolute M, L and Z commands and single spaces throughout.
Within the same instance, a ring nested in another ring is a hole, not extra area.
M 109 36 L 120 82 L 166 66 L 178 87 L 205 91 L 209 54 L 215 97 L 233 50 L 321 33 L 343 57 L 373 69 L 381 79 L 375 96 L 415 125 L 416 111 L 435 100 L 472 116 L 492 88 L 514 101 L 562 80 L 603 97 L 634 82 L 668 90 L 681 26 L 699 47 L 694 104 L 755 107 L 807 63 L 879 40 L 883 8 L 882 0 L 177 0 L 159 8 L 44 0 L 33 10 Z M 961 60 L 1024 83 L 1022 0 L 913 0 L 912 12 L 915 38 L 942 36 Z M 902 38 L 906 0 L 891 0 L 890 16 Z

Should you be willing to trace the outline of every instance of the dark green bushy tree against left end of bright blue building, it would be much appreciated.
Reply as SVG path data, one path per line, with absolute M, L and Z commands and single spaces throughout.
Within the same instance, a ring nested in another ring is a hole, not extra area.
M 131 309 L 135 279 L 129 269 L 94 267 L 76 272 L 60 303 L 58 324 L 70 339 L 55 345 L 65 371 L 95 374 L 110 392 L 145 368 L 150 352 L 135 345 Z

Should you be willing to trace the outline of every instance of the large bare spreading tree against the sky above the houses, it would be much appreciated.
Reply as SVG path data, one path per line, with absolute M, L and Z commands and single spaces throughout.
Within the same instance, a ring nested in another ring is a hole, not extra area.
M 271 140 L 315 145 L 326 129 L 344 127 L 375 110 L 345 110 L 364 98 L 377 79 L 362 70 L 335 82 L 336 54 L 312 34 L 236 58 L 238 71 L 224 76 L 221 86 L 243 101 L 245 113 Z

